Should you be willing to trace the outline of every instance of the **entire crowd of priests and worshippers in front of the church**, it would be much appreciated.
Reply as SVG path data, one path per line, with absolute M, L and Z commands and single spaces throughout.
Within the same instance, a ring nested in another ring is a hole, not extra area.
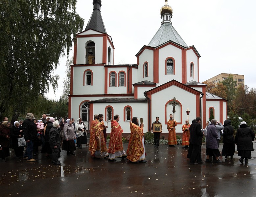
M 67 155 L 75 155 L 73 152 L 77 148 L 82 148 L 82 144 L 89 145 L 91 156 L 95 159 L 105 158 L 109 162 L 115 162 L 116 158 L 127 159 L 131 163 L 146 163 L 146 151 L 144 144 L 143 123 L 139 125 L 137 117 L 133 117 L 130 122 L 130 140 L 127 151 L 123 148 L 122 133 L 123 129 L 119 124 L 119 115 L 111 120 L 111 133 L 109 146 L 106 146 L 106 128 L 103 114 L 94 115 L 94 120 L 90 127 L 90 142 L 87 143 L 87 126 L 82 119 L 56 120 L 47 118 L 45 114 L 40 120 L 35 120 L 32 113 L 28 113 L 26 119 L 15 121 L 13 125 L 5 117 L 0 125 L 0 157 L 2 162 L 6 162 L 6 157 L 10 156 L 9 147 L 14 149 L 16 159 L 25 159 L 28 162 L 35 162 L 33 156 L 38 155 L 38 147 L 42 145 L 41 153 L 52 160 L 54 165 L 60 165 L 58 161 L 61 151 L 67 151 Z M 169 132 L 168 145 L 177 144 L 175 126 L 177 122 L 173 120 L 170 114 L 170 120 L 167 122 Z M 154 147 L 159 148 L 160 133 L 162 125 L 159 117 L 152 123 L 151 131 L 154 133 Z M 206 140 L 206 163 L 221 163 L 220 156 L 225 159 L 233 159 L 235 153 L 235 144 L 237 145 L 238 156 L 241 158 L 241 164 L 248 163 L 253 151 L 253 141 L 255 134 L 242 122 L 234 137 L 234 128 L 231 120 L 225 120 L 224 125 L 215 119 L 207 121 L 206 128 L 201 129 L 201 118 L 197 117 L 189 124 L 186 120 L 182 126 L 183 136 L 182 145 L 188 148 L 187 158 L 190 164 L 203 163 L 201 157 L 202 138 Z M 223 148 L 219 151 L 221 136 L 223 136 Z M 76 145 L 77 144 L 77 145 Z M 24 153 L 25 148 L 25 153 Z

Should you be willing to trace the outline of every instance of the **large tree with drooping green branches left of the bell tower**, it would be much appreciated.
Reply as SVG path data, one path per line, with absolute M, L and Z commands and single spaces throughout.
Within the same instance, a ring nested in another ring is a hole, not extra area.
M 0 117 L 9 111 L 15 120 L 44 95 L 59 76 L 59 57 L 72 48 L 84 21 L 77 0 L 1 0 Z M 12 120 L 12 121 L 13 121 Z

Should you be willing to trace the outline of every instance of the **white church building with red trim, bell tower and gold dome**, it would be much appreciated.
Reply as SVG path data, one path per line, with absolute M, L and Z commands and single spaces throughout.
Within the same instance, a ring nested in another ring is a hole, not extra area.
M 74 63 L 70 65 L 69 118 L 82 118 L 90 127 L 94 114 L 103 114 L 105 125 L 118 114 L 124 134 L 128 134 L 132 117 L 143 118 L 146 132 L 158 116 L 167 136 L 175 98 L 176 133 L 182 133 L 188 110 L 189 122 L 200 116 L 203 128 L 210 111 L 215 119 L 226 120 L 227 100 L 206 92 L 206 85 L 199 82 L 200 55 L 173 27 L 173 9 L 167 0 L 160 9 L 160 28 L 137 52 L 136 64 L 114 64 L 115 48 L 106 32 L 101 6 L 101 0 L 93 0 L 88 24 L 76 35 Z M 108 128 L 107 133 L 110 131 Z

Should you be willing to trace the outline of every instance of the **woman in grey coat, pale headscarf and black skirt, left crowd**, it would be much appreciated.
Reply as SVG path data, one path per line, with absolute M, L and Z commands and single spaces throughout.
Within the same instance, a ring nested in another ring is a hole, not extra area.
M 64 133 L 64 140 L 62 144 L 62 150 L 67 151 L 67 155 L 75 155 L 73 153 L 73 150 L 76 150 L 76 133 L 75 133 L 75 127 L 72 124 L 72 119 L 67 119 L 66 124 L 63 127 L 63 133 Z

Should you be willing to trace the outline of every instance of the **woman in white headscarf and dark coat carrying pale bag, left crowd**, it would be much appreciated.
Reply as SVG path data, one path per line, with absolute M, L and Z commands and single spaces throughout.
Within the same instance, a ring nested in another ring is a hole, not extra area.
M 16 159 L 20 159 L 23 157 L 24 146 L 19 147 L 18 138 L 23 136 L 23 130 L 18 121 L 15 121 L 13 124 L 11 127 L 12 149 L 14 149 Z

